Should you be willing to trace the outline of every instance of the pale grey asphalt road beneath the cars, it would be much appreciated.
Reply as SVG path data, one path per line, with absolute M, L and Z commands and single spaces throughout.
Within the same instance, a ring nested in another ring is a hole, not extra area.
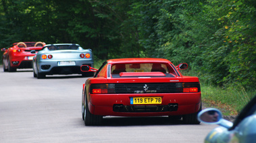
M 183 125 L 168 117 L 105 117 L 84 126 L 80 75 L 33 77 L 32 69 L 0 66 L 0 142 L 203 142 L 216 126 Z

